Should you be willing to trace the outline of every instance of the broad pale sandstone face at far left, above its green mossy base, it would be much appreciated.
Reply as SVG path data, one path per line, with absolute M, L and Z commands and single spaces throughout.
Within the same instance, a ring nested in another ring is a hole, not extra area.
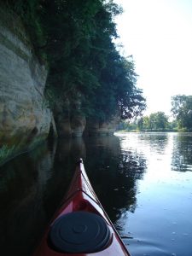
M 47 137 L 47 70 L 35 57 L 17 15 L 0 6 L 0 146 Z

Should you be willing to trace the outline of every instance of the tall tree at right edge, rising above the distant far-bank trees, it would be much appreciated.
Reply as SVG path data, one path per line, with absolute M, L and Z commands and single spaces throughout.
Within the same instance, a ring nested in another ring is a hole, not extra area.
M 172 96 L 172 113 L 179 128 L 192 130 L 192 96 Z

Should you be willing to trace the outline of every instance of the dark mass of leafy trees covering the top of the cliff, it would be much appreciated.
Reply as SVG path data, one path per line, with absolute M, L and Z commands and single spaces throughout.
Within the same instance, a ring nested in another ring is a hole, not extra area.
M 106 121 L 142 113 L 131 56 L 119 54 L 112 0 L 3 0 L 23 20 L 39 60 L 49 68 L 46 99 L 54 113 Z

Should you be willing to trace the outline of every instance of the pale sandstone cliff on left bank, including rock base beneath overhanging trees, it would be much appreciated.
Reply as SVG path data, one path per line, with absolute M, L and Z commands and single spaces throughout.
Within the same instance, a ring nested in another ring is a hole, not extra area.
M 60 137 L 113 134 L 116 120 L 87 122 L 84 115 L 66 117 L 59 108 L 55 127 L 44 97 L 47 74 L 20 17 L 0 3 L 0 165 L 2 158 L 32 148 L 48 137 L 50 127 L 54 134 L 57 128 Z

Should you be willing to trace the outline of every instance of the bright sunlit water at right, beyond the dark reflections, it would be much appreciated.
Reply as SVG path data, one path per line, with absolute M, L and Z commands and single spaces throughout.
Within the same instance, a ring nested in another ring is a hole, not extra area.
M 137 202 L 117 223 L 132 255 L 192 255 L 192 135 L 119 134 L 123 152 L 146 159 Z

